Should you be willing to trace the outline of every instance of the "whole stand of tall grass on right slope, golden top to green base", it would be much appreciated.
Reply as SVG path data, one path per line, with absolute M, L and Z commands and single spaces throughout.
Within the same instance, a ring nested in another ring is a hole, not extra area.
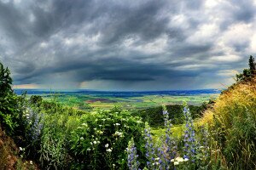
M 256 169 L 256 78 L 220 95 L 200 123 L 210 126 L 212 152 L 226 168 Z

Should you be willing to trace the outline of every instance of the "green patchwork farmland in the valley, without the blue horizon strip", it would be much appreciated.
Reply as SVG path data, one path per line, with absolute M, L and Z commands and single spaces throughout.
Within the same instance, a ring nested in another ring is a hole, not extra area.
M 171 95 L 145 95 L 143 97 L 117 98 L 93 95 L 43 95 L 44 99 L 55 99 L 62 105 L 67 105 L 75 109 L 90 111 L 93 109 L 109 110 L 114 106 L 119 106 L 125 110 L 145 109 L 159 105 L 181 105 L 186 101 L 189 105 L 201 105 L 209 99 L 215 99 L 218 94 L 201 94 L 190 96 Z

